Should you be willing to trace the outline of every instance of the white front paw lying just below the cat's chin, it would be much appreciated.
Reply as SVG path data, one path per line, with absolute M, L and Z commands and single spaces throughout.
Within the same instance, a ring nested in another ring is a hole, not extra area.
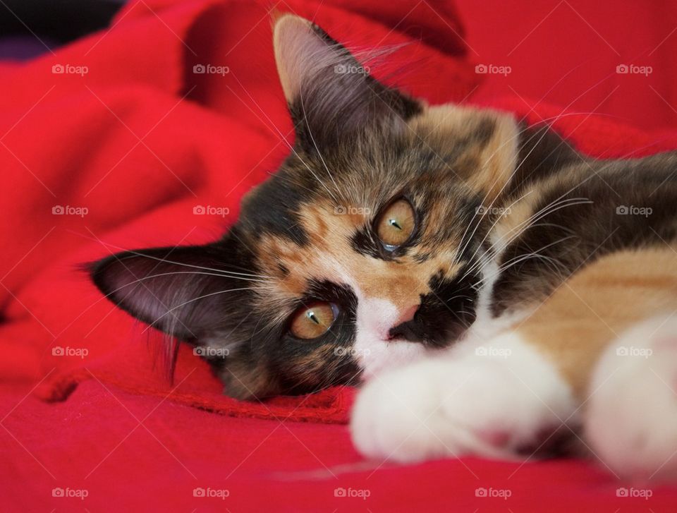
M 353 409 L 367 457 L 512 459 L 578 421 L 570 387 L 516 333 L 373 378 Z

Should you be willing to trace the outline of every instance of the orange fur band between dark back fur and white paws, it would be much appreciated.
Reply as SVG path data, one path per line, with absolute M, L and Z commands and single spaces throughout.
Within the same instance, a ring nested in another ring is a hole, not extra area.
M 677 253 L 670 247 L 600 258 L 564 282 L 516 330 L 585 399 L 604 348 L 636 322 L 661 312 L 677 312 Z

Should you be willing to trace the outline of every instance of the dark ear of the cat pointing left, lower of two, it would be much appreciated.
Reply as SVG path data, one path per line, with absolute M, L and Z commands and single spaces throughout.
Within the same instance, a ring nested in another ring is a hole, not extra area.
M 184 340 L 218 331 L 247 285 L 226 272 L 214 246 L 124 251 L 94 262 L 90 275 L 120 308 Z

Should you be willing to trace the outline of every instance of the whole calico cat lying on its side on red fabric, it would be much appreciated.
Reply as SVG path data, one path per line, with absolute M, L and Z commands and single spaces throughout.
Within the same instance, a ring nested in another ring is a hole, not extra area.
M 547 124 L 430 106 L 307 20 L 274 23 L 291 155 L 223 239 L 92 265 L 205 349 L 226 394 L 366 384 L 370 457 L 524 458 L 562 433 L 677 470 L 677 155 L 597 160 Z

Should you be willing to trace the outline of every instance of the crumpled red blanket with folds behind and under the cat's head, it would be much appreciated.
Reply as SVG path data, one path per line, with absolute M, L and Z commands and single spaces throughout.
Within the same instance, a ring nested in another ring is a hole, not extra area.
M 477 82 L 463 42 L 446 36 L 450 26 L 461 32 L 451 8 L 430 18 L 429 8 L 407 1 L 284 7 L 362 47 L 425 34 L 425 44 L 403 47 L 390 64 L 427 62 L 401 75 L 401 85 L 434 102 L 458 101 Z M 64 399 L 94 377 L 144 394 L 174 389 L 154 365 L 157 334 L 113 308 L 78 265 L 123 248 L 216 239 L 243 193 L 276 169 L 291 124 L 270 20 L 263 4 L 140 2 L 113 30 L 6 73 L 0 162 L 16 195 L 4 195 L 0 220 L 2 375 L 39 379 L 53 370 L 37 390 L 46 399 Z M 452 86 L 426 87 L 438 73 Z M 248 416 L 345 421 L 350 399 L 350 390 L 334 389 L 236 402 L 187 347 L 175 383 L 174 401 Z

